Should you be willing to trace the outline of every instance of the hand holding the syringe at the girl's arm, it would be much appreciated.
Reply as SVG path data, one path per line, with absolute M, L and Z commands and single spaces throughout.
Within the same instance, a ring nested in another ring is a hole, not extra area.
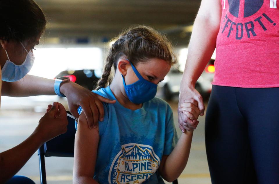
M 34 133 L 37 133 L 42 143 L 64 134 L 67 131 L 67 114 L 64 106 L 53 102 L 48 106 L 47 113 L 40 119 Z

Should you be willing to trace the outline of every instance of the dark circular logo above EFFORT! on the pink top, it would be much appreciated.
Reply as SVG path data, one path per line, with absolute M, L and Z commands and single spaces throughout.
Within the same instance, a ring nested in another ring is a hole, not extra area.
M 240 8 L 240 0 L 228 0 L 229 3 L 229 12 L 235 16 L 239 17 L 239 12 L 243 11 L 243 8 Z M 245 0 L 244 1 L 244 17 L 250 17 L 257 13 L 257 11 L 262 8 L 264 0 Z

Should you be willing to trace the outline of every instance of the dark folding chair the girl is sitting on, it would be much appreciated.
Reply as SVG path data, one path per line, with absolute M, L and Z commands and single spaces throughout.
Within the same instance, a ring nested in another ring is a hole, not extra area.
M 69 111 L 67 112 L 69 113 Z M 47 184 L 44 157 L 74 157 L 74 143 L 76 134 L 75 120 L 68 116 L 67 118 L 69 122 L 67 126 L 67 132 L 45 142 L 38 150 L 41 184 Z M 173 184 L 178 184 L 178 181 L 175 180 Z

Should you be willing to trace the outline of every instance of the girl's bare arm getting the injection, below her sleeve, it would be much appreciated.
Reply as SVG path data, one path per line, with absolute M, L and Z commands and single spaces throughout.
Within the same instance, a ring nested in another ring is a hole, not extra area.
M 93 176 L 99 143 L 99 127 L 89 129 L 83 112 L 80 115 L 77 127 L 73 183 L 98 183 L 93 179 Z

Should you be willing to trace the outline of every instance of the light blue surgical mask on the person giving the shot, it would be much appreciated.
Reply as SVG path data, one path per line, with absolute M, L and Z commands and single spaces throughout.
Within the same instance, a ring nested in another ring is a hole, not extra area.
M 33 53 L 31 52 L 31 50 L 28 52 L 23 44 L 22 44 L 22 46 L 25 49 L 25 51 L 27 52 L 27 56 L 26 56 L 25 61 L 21 65 L 16 65 L 13 62 L 11 62 L 10 58 L 8 56 L 7 50 L 5 50 L 8 60 L 6 61 L 6 63 L 4 64 L 4 66 L 2 68 L 2 80 L 3 81 L 15 82 L 17 80 L 22 79 L 31 70 L 35 57 L 33 56 Z

